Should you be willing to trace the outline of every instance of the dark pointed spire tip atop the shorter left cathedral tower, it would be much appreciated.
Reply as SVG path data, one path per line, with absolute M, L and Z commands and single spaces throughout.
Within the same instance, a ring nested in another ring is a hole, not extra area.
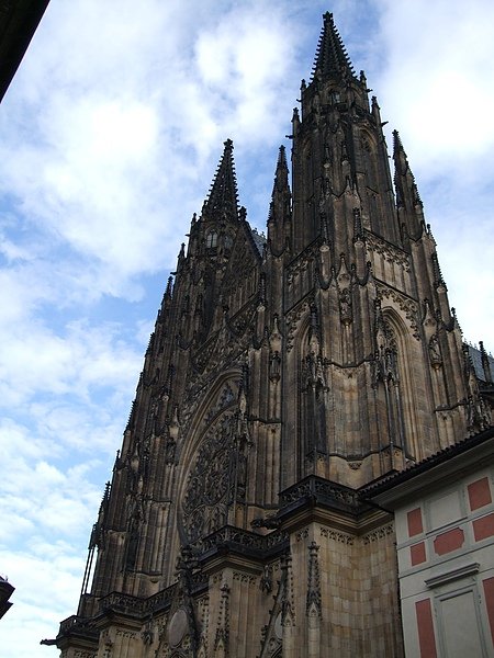
M 237 178 L 232 139 L 227 139 L 224 146 L 210 193 L 202 207 L 203 219 L 238 219 Z

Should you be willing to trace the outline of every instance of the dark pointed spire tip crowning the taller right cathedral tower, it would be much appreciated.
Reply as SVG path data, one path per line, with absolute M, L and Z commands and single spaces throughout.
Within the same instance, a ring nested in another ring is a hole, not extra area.
M 355 76 L 350 58 L 336 30 L 333 14 L 326 12 L 323 18 L 324 25 L 317 44 L 312 80 L 317 76 L 336 80 Z

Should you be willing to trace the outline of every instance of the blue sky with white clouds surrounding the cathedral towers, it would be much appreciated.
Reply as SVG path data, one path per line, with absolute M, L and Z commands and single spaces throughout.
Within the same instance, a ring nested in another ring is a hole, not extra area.
M 38 643 L 76 612 L 190 217 L 231 137 L 265 227 L 326 10 L 400 131 L 464 337 L 494 349 L 491 0 L 52 0 L 0 105 L 4 658 L 57 655 Z

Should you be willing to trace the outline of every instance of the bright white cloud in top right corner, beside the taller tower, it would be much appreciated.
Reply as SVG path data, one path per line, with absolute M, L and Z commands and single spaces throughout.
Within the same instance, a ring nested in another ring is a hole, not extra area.
M 492 2 L 475 0 L 461 11 L 446 0 L 383 4 L 386 112 L 406 124 L 417 167 L 435 160 L 441 167 L 445 157 L 461 161 L 490 150 Z

